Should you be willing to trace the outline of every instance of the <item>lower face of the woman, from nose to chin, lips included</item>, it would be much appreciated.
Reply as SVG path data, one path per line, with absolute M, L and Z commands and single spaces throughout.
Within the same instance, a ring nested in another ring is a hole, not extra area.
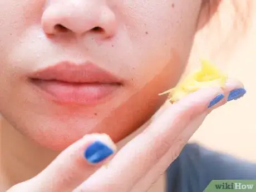
M 201 0 L 0 2 L 0 111 L 62 150 L 91 132 L 119 141 L 184 70 Z

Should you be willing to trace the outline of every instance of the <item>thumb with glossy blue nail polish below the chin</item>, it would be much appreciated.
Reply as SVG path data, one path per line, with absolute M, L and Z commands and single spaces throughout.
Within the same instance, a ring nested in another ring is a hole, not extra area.
M 72 191 L 99 169 L 115 152 L 105 134 L 86 135 L 60 155 L 39 175 L 27 182 L 26 191 Z

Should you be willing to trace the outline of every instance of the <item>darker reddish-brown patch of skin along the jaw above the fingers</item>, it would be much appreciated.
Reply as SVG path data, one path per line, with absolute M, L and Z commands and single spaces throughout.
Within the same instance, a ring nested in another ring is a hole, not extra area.
M 179 62 L 179 57 L 174 57 L 174 60 Z M 105 132 L 115 142 L 131 134 L 164 104 L 166 97 L 158 94 L 175 86 L 182 72 L 182 67 L 174 71 L 172 65 L 166 65 L 163 71 L 151 78 L 151 81 L 143 82 L 144 86 L 134 91 L 129 99 L 112 111 L 95 130 Z

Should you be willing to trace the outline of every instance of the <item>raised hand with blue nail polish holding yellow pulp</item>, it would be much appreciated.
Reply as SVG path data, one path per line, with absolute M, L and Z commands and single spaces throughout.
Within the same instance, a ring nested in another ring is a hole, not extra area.
M 229 80 L 224 90 L 205 88 L 191 93 L 167 107 L 117 154 L 107 135 L 86 135 L 61 152 L 40 174 L 7 192 L 147 191 L 179 156 L 205 117 L 227 102 L 230 91 L 241 87 L 242 83 Z M 209 107 L 216 96 L 215 101 L 221 99 L 220 94 L 225 97 Z M 91 156 L 97 149 L 101 150 Z M 109 164 L 102 166 L 107 161 Z

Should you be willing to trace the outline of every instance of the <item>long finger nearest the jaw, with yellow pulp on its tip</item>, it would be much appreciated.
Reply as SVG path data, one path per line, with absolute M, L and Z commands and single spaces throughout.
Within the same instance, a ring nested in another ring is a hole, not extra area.
M 107 169 L 97 171 L 75 191 L 129 191 L 170 149 L 191 120 L 203 114 L 210 101 L 220 93 L 220 88 L 206 88 L 171 105 L 144 132 L 124 146 Z

